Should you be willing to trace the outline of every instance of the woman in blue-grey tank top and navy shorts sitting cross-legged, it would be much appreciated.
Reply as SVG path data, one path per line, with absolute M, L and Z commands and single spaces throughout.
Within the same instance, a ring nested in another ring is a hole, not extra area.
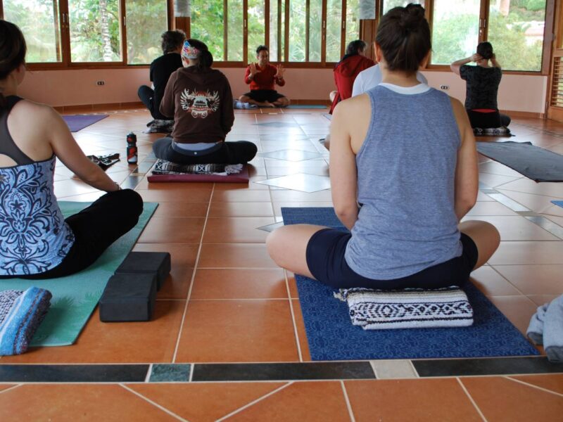
M 487 222 L 460 224 L 478 191 L 473 131 L 459 101 L 417 80 L 431 51 L 422 6 L 388 11 L 376 43 L 383 82 L 339 103 L 331 124 L 332 199 L 351 233 L 284 226 L 268 251 L 333 288 L 460 286 L 500 241 Z

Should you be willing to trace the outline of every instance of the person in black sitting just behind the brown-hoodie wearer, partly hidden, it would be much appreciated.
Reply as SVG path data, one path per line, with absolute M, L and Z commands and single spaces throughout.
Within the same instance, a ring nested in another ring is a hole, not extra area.
M 186 34 L 182 30 L 166 31 L 162 34 L 163 56 L 153 60 L 149 73 L 154 89 L 142 85 L 137 93 L 146 108 L 151 112 L 155 120 L 153 124 L 157 127 L 170 125 L 174 122 L 174 120 L 170 120 L 169 117 L 160 113 L 160 102 L 170 75 L 177 69 L 182 68 L 180 53 L 182 53 L 185 39 Z

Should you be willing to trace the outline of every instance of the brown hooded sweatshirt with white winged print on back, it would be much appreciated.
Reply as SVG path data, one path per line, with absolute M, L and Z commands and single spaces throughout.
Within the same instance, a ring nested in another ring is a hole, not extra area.
M 234 122 L 229 81 L 219 70 L 180 68 L 168 79 L 160 113 L 174 116 L 178 143 L 224 141 Z

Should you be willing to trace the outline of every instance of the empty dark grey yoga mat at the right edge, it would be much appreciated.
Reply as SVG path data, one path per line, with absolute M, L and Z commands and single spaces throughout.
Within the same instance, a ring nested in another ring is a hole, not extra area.
M 535 181 L 563 181 L 563 155 L 531 142 L 477 142 L 477 151 Z

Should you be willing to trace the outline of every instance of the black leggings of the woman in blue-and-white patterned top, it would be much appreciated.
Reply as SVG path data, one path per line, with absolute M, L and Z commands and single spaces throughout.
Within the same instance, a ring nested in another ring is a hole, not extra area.
M 75 243 L 61 264 L 41 274 L 11 276 L 20 279 L 54 279 L 82 271 L 100 257 L 118 238 L 131 230 L 143 212 L 143 199 L 131 189 L 108 192 L 65 222 L 75 234 Z M 6 278 L 2 276 L 2 278 Z

